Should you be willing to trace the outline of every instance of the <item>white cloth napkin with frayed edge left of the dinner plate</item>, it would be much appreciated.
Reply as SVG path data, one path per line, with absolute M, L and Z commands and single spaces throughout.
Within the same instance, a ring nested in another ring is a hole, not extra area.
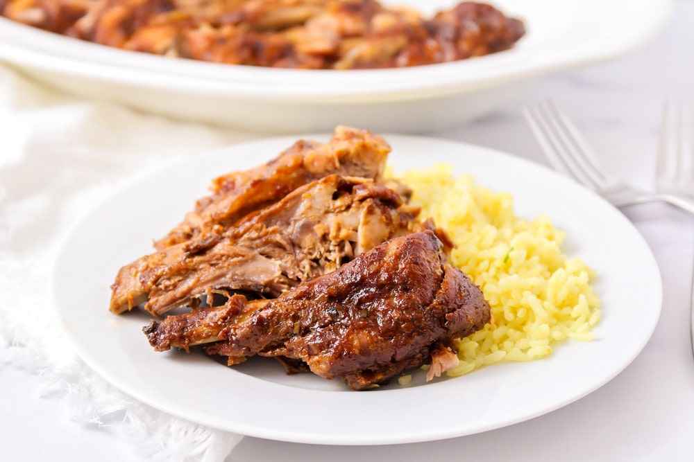
M 129 175 L 251 136 L 78 100 L 3 66 L 0 127 L 0 357 L 37 373 L 76 420 L 119 429 L 143 459 L 223 461 L 242 436 L 142 405 L 76 357 L 49 272 L 70 226 Z

